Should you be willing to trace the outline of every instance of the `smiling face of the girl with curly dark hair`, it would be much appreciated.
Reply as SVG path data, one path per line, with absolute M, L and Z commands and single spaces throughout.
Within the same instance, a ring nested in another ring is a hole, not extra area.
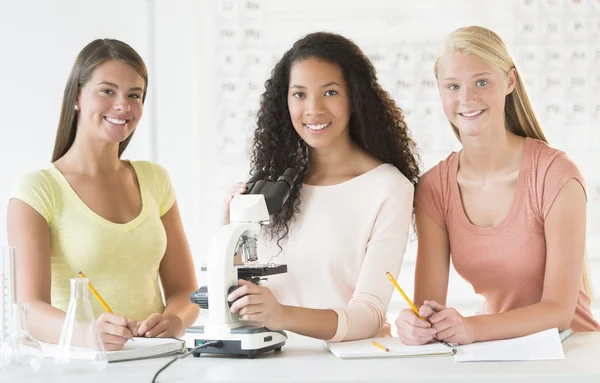
M 350 97 L 339 65 L 309 58 L 290 70 L 288 110 L 308 146 L 329 148 L 349 142 Z

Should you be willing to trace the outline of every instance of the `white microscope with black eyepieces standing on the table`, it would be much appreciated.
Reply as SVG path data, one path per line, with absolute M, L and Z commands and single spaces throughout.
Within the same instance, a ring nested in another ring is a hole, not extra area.
M 261 225 L 281 209 L 294 187 L 298 172 L 287 169 L 276 182 L 267 181 L 267 174 L 256 171 L 247 182 L 245 194 L 235 196 L 229 205 L 230 223 L 219 229 L 213 240 L 207 262 L 207 284 L 190 294 L 192 303 L 208 309 L 209 321 L 204 326 L 189 327 L 185 340 L 188 348 L 207 342 L 221 341 L 220 348 L 205 348 L 194 352 L 234 354 L 254 358 L 271 350 L 279 351 L 287 340 L 283 331 L 271 331 L 263 326 L 250 326 L 232 313 L 233 302 L 227 296 L 238 286 L 238 279 L 254 284 L 269 275 L 287 272 L 287 265 L 258 264 L 257 239 Z M 234 257 L 242 256 L 243 265 L 235 265 Z

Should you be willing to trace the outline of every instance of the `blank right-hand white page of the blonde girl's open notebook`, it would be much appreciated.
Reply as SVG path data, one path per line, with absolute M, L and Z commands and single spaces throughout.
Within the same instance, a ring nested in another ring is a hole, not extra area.
M 557 329 L 521 338 L 479 342 L 457 347 L 455 362 L 555 360 L 565 353 Z

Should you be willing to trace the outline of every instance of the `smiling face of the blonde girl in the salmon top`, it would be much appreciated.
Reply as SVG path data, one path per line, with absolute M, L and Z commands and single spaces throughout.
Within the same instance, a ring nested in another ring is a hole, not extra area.
M 461 138 L 505 129 L 504 106 L 515 86 L 514 68 L 507 76 L 481 57 L 461 52 L 441 57 L 437 68 L 444 113 Z

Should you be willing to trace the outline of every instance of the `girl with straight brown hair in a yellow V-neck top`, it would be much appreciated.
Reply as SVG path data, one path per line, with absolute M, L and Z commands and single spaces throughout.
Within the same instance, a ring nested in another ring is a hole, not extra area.
M 180 336 L 196 319 L 194 267 L 169 176 L 151 162 L 120 159 L 147 86 L 129 45 L 88 44 L 67 81 L 52 164 L 15 186 L 7 226 L 17 294 L 43 342 L 58 341 L 79 271 L 113 310 L 90 299 L 107 350 L 132 336 Z

